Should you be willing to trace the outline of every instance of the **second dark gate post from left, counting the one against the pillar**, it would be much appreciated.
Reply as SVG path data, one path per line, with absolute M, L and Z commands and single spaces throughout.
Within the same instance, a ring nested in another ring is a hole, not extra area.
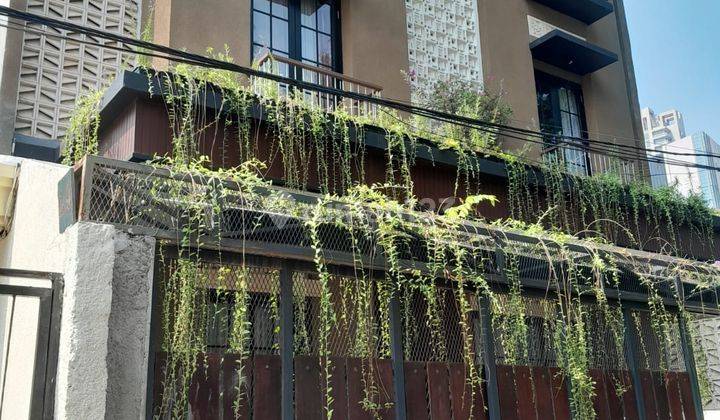
M 283 420 L 295 418 L 293 406 L 293 284 L 292 266 L 280 269 L 280 412 Z

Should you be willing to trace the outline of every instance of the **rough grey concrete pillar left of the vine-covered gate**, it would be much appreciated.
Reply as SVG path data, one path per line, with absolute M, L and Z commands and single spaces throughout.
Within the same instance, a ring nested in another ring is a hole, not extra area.
M 64 236 L 56 416 L 143 418 L 155 239 L 87 222 Z

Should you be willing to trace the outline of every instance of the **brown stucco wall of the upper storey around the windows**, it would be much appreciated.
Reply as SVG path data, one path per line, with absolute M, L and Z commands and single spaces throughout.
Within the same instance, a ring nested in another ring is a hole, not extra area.
M 227 44 L 236 62 L 249 65 L 251 1 L 212 3 L 157 0 L 156 42 L 196 53 L 204 53 L 207 47 L 222 49 Z M 534 62 L 529 49 L 528 14 L 586 37 L 616 52 L 620 60 L 584 77 Z M 621 17 L 624 19 L 624 15 Z M 636 130 L 633 115 L 639 113 L 639 107 L 637 99 L 632 98 L 634 79 L 626 80 L 631 63 L 626 62 L 629 51 L 621 46 L 618 22 L 623 19 L 613 13 L 588 26 L 533 0 L 478 0 L 485 83 L 504 92 L 514 110 L 511 124 L 539 128 L 534 75 L 537 68 L 582 84 L 591 137 L 602 134 L 603 140 L 635 144 L 634 138 L 641 133 Z M 404 0 L 342 0 L 341 22 L 343 72 L 382 86 L 386 98 L 409 100 L 409 87 L 401 73 L 408 69 Z M 531 157 L 539 155 L 539 147 L 525 139 L 504 138 L 502 144 L 510 151 L 530 147 Z

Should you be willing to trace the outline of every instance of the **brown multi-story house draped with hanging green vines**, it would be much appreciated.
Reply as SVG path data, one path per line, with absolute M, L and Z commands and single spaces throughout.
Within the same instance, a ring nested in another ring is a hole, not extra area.
M 133 60 L 102 45 L 7 32 L 8 149 L 52 145 L 71 99 L 117 76 L 84 109 L 102 156 L 3 160 L 20 171 L 1 184 L 17 200 L 0 262 L 32 281 L 0 294 L 41 299 L 17 318 L 38 324 L 32 351 L 6 329 L 6 383 L 22 388 L 2 404 L 58 418 L 701 415 L 695 355 L 715 366 L 717 348 L 694 353 L 686 321 L 716 328 L 720 225 L 628 190 L 648 171 L 622 0 L 36 3 L 14 7 L 194 53 L 227 45 L 289 79 L 196 85 L 166 58 L 119 71 Z M 373 99 L 448 80 L 502 91 L 527 136 L 453 148 L 432 130 L 455 124 L 462 143 L 478 129 L 435 114 L 412 131 Z M 197 160 L 142 163 L 156 155 Z M 423 211 L 468 196 L 472 211 Z

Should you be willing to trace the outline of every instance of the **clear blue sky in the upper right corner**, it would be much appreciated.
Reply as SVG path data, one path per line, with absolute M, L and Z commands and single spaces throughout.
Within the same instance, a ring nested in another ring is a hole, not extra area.
M 720 1 L 625 0 L 640 106 L 720 141 Z

